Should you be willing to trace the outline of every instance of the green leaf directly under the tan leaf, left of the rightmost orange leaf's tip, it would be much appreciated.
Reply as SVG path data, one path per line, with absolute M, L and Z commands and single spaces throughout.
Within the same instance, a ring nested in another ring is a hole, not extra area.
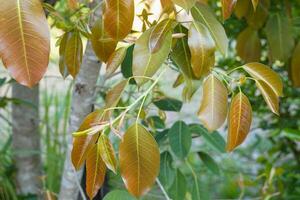
M 203 136 L 203 140 L 211 149 L 219 153 L 225 153 L 225 140 L 217 131 L 209 133 L 208 130 L 200 124 L 190 124 L 189 129 L 191 133 Z

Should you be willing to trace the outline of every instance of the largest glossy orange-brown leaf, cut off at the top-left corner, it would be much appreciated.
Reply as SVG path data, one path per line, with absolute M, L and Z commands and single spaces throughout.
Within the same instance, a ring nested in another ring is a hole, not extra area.
M 39 0 L 1 1 L 0 57 L 11 76 L 33 87 L 46 72 L 50 31 Z

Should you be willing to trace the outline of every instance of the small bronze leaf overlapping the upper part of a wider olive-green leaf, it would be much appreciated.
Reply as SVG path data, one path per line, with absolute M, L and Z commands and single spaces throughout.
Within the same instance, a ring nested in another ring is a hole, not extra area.
M 173 24 L 174 20 L 165 19 L 154 26 L 150 33 L 149 39 L 149 49 L 152 54 L 158 52 L 161 49 L 166 37 L 171 31 Z

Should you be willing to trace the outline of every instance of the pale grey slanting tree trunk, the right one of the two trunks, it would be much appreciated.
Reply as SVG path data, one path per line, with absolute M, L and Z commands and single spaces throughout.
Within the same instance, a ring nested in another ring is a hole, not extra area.
M 94 7 L 100 2 L 100 0 L 96 0 L 92 3 L 91 6 Z M 98 17 L 101 14 L 99 12 L 97 12 L 96 14 Z M 91 23 L 95 21 L 97 16 L 91 17 Z M 75 169 L 71 163 L 71 133 L 79 128 L 79 125 L 81 124 L 84 117 L 93 110 L 95 100 L 94 95 L 96 90 L 96 83 L 100 73 L 100 68 L 101 63 L 94 54 L 91 43 L 88 42 L 83 57 L 83 62 L 79 74 L 76 77 L 73 89 L 71 114 L 69 121 L 69 135 L 67 138 L 67 155 L 59 194 L 59 199 L 61 200 L 77 199 L 79 194 L 82 170 L 79 172 L 75 172 Z

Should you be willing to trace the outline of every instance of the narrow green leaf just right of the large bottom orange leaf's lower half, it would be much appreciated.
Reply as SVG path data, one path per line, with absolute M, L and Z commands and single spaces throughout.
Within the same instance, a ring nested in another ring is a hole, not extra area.
M 169 152 L 165 151 L 160 155 L 160 160 L 159 180 L 164 188 L 169 189 L 176 175 L 176 171 L 172 166 L 172 156 Z

